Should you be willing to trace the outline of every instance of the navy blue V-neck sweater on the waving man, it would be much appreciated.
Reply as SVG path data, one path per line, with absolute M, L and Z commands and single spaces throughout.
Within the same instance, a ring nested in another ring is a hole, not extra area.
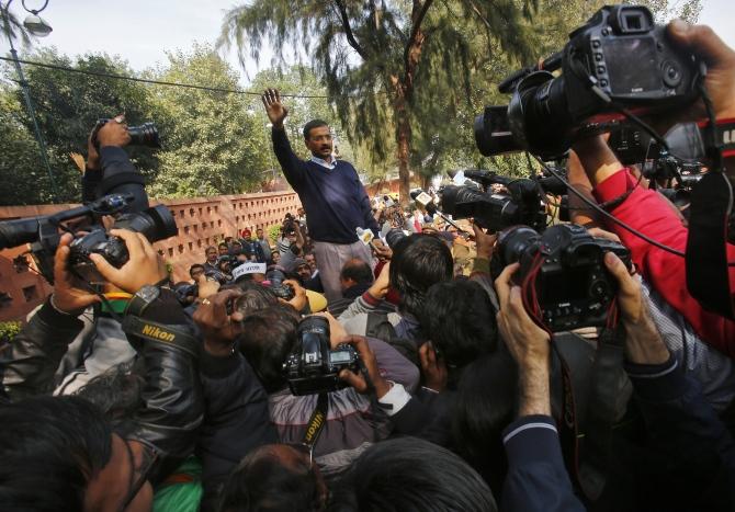
M 273 151 L 289 184 L 306 211 L 309 237 L 330 243 L 358 241 L 355 228 L 380 231 L 370 198 L 351 163 L 336 160 L 335 169 L 301 160 L 291 149 L 284 129 L 273 128 Z

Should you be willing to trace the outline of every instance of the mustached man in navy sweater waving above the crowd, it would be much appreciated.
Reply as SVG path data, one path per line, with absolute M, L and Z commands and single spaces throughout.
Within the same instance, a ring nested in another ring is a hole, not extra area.
M 339 273 L 342 265 L 359 258 L 372 264 L 370 248 L 358 239 L 357 228 L 378 232 L 370 198 L 351 163 L 332 156 L 329 125 L 313 120 L 304 126 L 304 143 L 312 152 L 308 160 L 299 159 L 291 148 L 283 120 L 289 109 L 281 103 L 275 89 L 262 96 L 273 130 L 273 151 L 289 184 L 296 191 L 304 208 L 309 237 L 329 301 L 340 299 Z

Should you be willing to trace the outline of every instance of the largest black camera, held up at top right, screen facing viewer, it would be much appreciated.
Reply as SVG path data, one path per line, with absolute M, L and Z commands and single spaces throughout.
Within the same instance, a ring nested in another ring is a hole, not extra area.
M 569 34 L 562 52 L 499 84 L 512 93 L 510 104 L 487 106 L 475 120 L 477 147 L 485 156 L 561 157 L 579 130 L 623 118 L 625 109 L 643 115 L 692 102 L 699 69 L 645 7 L 603 7 Z

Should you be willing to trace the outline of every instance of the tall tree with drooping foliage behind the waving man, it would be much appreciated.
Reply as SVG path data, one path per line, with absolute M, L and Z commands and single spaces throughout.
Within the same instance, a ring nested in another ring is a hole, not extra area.
M 474 58 L 468 39 L 479 32 L 507 54 L 530 57 L 521 21 L 532 7 L 532 0 L 255 0 L 227 13 L 220 44 L 234 42 L 241 58 L 257 58 L 267 39 L 278 48 L 304 47 L 350 137 L 368 141 L 380 157 L 393 138 L 407 202 L 415 137 L 431 140 L 425 124 L 451 118 L 468 96 Z M 471 32 L 457 29 L 465 20 L 473 21 Z M 283 64 L 282 49 L 278 56 Z M 431 118 L 438 102 L 448 110 Z

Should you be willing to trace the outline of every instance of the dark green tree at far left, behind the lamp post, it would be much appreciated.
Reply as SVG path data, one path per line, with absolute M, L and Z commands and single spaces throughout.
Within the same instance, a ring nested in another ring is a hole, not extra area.
M 41 61 L 54 66 L 71 67 L 75 69 L 112 73 L 132 75 L 126 62 L 108 57 L 106 55 L 86 55 L 71 60 L 59 55 L 55 49 L 38 50 L 30 56 L 30 60 Z M 60 202 L 80 201 L 80 173 L 69 155 L 78 152 L 87 155 L 87 138 L 94 123 L 101 117 L 110 117 L 125 112 L 132 123 L 147 121 L 150 117 L 150 103 L 147 101 L 146 88 L 137 82 L 113 78 L 78 75 L 61 69 L 49 69 L 36 66 L 25 66 L 25 78 L 29 83 L 31 100 L 36 110 L 36 122 L 47 144 L 47 156 L 57 182 Z M 9 66 L 4 67 L 7 77 L 14 77 Z M 5 88 L 3 93 L 14 99 L 5 99 L 0 109 L 3 116 L 12 120 L 7 129 L 11 129 L 14 140 L 24 140 L 33 133 L 33 120 L 29 112 L 13 107 L 22 102 L 20 88 Z M 25 134 L 22 130 L 25 130 Z M 30 194 L 19 196 L 19 193 L 3 195 L 8 200 L 14 198 L 18 203 L 47 203 L 53 201 L 49 180 L 38 157 L 37 147 L 31 152 L 30 147 L 10 144 L 11 139 L 2 139 L 0 144 L 9 144 L 13 152 L 12 167 L 19 178 L 25 177 L 36 184 Z M 132 148 L 131 156 L 139 168 L 150 177 L 157 168 L 156 156 L 148 149 Z

